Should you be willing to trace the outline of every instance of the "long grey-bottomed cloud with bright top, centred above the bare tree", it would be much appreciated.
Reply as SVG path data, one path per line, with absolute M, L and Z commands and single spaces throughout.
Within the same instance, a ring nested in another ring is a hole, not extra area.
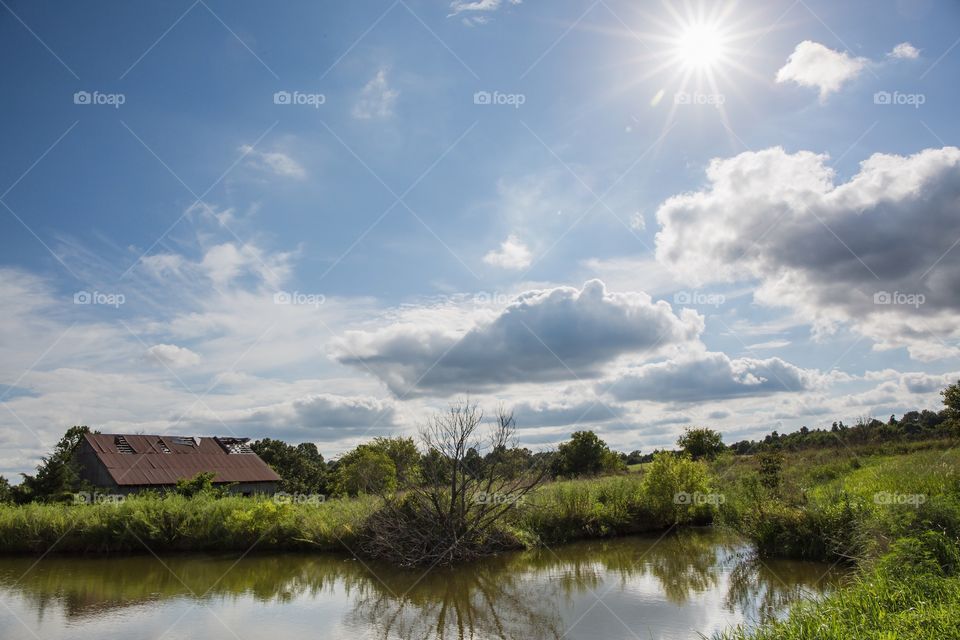
M 645 293 L 611 293 L 592 280 L 528 291 L 466 331 L 398 322 L 348 332 L 336 357 L 374 372 L 400 395 L 472 392 L 496 384 L 596 377 L 625 354 L 648 356 L 695 341 L 703 317 L 675 315 Z

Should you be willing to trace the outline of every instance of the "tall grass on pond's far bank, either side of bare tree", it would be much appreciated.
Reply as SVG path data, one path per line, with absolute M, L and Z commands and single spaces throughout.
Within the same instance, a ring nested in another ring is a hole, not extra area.
M 664 458 L 645 474 L 548 483 L 500 527 L 517 547 L 664 529 L 710 521 L 712 507 L 675 495 L 711 490 L 707 466 Z M 176 494 L 122 502 L 0 506 L 0 553 L 356 550 L 379 504 L 373 497 L 319 504 L 270 498 Z

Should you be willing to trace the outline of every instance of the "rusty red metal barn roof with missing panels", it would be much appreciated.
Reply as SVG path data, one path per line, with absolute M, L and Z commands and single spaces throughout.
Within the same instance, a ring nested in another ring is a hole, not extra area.
M 185 438 L 113 433 L 84 434 L 94 454 L 121 486 L 170 485 L 200 472 L 214 482 L 277 482 L 273 469 L 255 453 L 229 453 L 235 438 Z M 133 453 L 121 453 L 124 441 Z M 193 441 L 194 444 L 184 444 Z M 120 445 L 118 447 L 118 444 Z M 166 453 L 169 451 L 169 453 Z

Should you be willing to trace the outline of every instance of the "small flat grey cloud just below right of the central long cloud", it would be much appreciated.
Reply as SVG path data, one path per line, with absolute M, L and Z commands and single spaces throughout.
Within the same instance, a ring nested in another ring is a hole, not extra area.
M 723 353 L 708 352 L 634 367 L 612 384 L 598 388 L 623 402 L 702 402 L 808 391 L 824 381 L 819 372 L 780 358 L 731 359 Z

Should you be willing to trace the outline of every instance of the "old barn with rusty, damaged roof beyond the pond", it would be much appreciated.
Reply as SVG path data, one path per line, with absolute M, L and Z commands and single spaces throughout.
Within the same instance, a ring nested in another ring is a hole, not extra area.
M 118 494 L 170 489 L 182 478 L 213 472 L 232 493 L 276 493 L 280 476 L 249 438 L 87 433 L 74 455 L 80 478 Z

